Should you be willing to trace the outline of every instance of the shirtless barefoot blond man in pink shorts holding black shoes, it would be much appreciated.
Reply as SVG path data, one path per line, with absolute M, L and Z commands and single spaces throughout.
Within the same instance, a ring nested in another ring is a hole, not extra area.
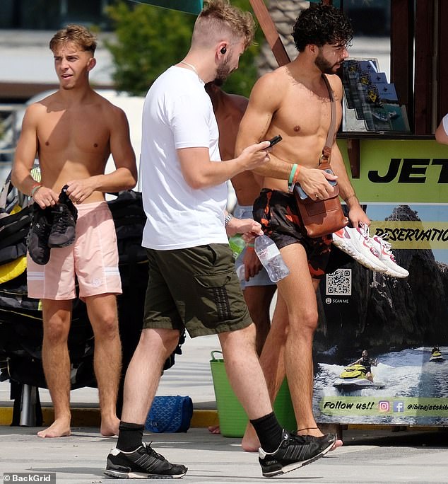
M 21 192 L 33 195 L 41 209 L 55 207 L 61 188 L 68 185 L 66 194 L 76 204 L 78 221 L 74 243 L 52 248 L 46 265 L 37 265 L 28 254 L 28 294 L 42 299 L 42 362 L 54 405 L 54 422 L 37 434 L 71 433 L 67 338 L 76 274 L 95 335 L 100 431 L 111 436 L 119 426 L 115 405 L 121 343 L 116 295 L 122 289 L 114 223 L 104 193 L 133 188 L 136 161 L 126 115 L 90 88 L 88 76 L 96 64 L 93 35 L 80 25 L 68 25 L 54 35 L 49 47 L 59 90 L 26 110 L 12 180 Z M 36 154 L 40 183 L 30 175 Z M 110 154 L 116 170 L 105 175 Z

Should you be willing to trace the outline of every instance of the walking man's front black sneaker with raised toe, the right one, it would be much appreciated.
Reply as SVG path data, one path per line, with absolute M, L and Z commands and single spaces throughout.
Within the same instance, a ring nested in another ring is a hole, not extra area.
M 259 463 L 264 477 L 278 476 L 306 466 L 324 456 L 336 442 L 336 437 L 326 434 L 322 437 L 312 435 L 293 435 L 283 430 L 281 444 L 274 452 L 259 449 Z

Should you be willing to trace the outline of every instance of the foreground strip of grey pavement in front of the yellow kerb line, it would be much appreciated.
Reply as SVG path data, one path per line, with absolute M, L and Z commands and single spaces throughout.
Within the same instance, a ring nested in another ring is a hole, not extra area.
M 76 428 L 71 437 L 39 439 L 35 437 L 35 430 L 0 427 L 1 472 L 56 473 L 56 480 L 52 482 L 57 484 L 112 482 L 102 475 L 102 470 L 115 439 L 103 438 L 92 428 Z M 419 433 L 412 438 L 399 434 L 382 432 L 374 437 L 348 432 L 346 445 L 341 449 L 271 480 L 314 484 L 446 483 L 446 439 L 440 438 L 440 434 Z M 153 441 L 154 448 L 167 459 L 188 466 L 182 482 L 257 484 L 267 481 L 261 476 L 257 454 L 242 451 L 240 439 L 213 435 L 198 428 L 186 434 L 148 435 L 147 440 Z

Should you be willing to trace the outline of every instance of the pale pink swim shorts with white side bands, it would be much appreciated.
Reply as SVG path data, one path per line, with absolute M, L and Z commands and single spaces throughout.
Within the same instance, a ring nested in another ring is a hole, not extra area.
M 52 248 L 49 262 L 37 265 L 27 255 L 28 296 L 36 299 L 81 298 L 122 294 L 117 234 L 107 202 L 77 205 L 76 239 Z

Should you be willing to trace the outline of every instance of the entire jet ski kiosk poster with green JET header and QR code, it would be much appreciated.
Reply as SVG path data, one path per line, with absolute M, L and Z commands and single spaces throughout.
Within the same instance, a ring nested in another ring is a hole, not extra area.
M 346 141 L 338 145 L 350 175 Z M 350 181 L 369 235 L 408 277 L 334 250 L 338 268 L 318 292 L 317 422 L 448 425 L 448 146 L 362 139 Z

